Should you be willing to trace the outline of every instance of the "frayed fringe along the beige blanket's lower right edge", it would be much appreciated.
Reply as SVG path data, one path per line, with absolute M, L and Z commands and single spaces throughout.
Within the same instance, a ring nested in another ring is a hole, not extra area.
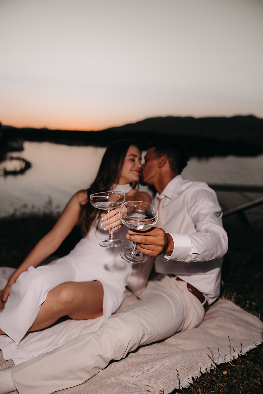
M 180 380 L 180 385 L 179 383 L 177 385 L 175 385 L 172 389 L 169 389 L 169 391 L 164 392 L 164 394 L 170 394 L 170 392 L 172 392 L 173 390 L 182 390 L 183 388 L 187 388 L 190 386 L 190 384 L 193 383 L 193 379 L 196 380 L 198 379 L 198 377 L 201 376 L 201 373 L 205 374 L 206 372 L 210 372 L 211 370 L 214 370 L 217 368 L 218 365 L 220 364 L 224 364 L 226 362 L 231 362 L 234 359 L 237 359 L 239 356 L 241 355 L 246 355 L 246 353 L 252 349 L 255 349 L 257 346 L 259 346 L 263 341 L 260 340 L 259 342 L 254 342 L 252 345 L 247 346 L 244 349 L 241 349 L 241 351 L 233 351 L 233 353 L 231 353 L 231 357 L 229 356 L 224 356 L 221 357 L 220 359 L 218 359 L 216 362 L 211 362 L 211 364 L 203 367 L 203 368 L 199 368 L 197 371 L 193 372 L 191 375 L 187 376 L 185 379 L 183 379 L 183 381 Z

